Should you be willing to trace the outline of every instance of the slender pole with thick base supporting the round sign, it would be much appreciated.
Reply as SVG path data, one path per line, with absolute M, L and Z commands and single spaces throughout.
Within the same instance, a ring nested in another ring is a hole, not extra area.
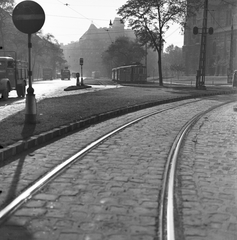
M 29 87 L 26 94 L 25 123 L 36 123 L 36 101 L 34 89 L 32 88 L 32 70 L 31 70 L 31 34 L 28 34 L 28 79 Z

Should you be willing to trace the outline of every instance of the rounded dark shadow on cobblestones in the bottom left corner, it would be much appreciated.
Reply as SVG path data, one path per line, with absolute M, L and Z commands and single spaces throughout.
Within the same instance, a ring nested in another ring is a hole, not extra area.
M 33 236 L 25 227 L 14 222 L 8 222 L 7 225 L 0 227 L 1 240 L 32 240 Z

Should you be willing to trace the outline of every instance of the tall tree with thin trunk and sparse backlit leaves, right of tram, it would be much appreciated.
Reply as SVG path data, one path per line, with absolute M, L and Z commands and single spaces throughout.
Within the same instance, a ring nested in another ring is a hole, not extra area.
M 190 2 L 196 7 L 194 0 Z M 147 43 L 148 47 L 157 52 L 160 86 L 163 86 L 162 51 L 165 31 L 172 23 L 184 25 L 186 10 L 186 0 L 128 0 L 118 10 L 118 14 L 128 21 L 141 43 Z

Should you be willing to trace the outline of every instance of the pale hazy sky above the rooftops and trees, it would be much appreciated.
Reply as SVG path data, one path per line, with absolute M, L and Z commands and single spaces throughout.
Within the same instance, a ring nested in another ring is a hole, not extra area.
M 43 33 L 51 33 L 59 43 L 78 41 L 91 23 L 97 28 L 109 27 L 118 17 L 117 9 L 127 0 L 35 0 L 45 11 Z M 16 5 L 22 0 L 15 0 Z M 178 26 L 166 34 L 167 45 L 182 46 L 183 37 Z

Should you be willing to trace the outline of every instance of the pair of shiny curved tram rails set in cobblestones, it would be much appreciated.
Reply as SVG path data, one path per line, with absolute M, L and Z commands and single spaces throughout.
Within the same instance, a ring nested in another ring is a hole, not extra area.
M 146 113 L 140 117 L 137 117 L 136 119 L 129 121 L 126 124 L 123 124 L 120 127 L 117 127 L 116 129 L 110 131 L 109 133 L 99 137 L 95 141 L 91 142 L 87 146 L 85 146 L 83 149 L 78 151 L 76 154 L 68 158 L 66 161 L 62 162 L 58 166 L 56 166 L 54 169 L 49 171 L 47 174 L 45 174 L 42 178 L 38 179 L 32 186 L 27 188 L 24 192 L 22 192 L 17 198 L 15 198 L 10 204 L 5 206 L 0 211 L 0 225 L 3 224 L 16 210 L 18 210 L 25 202 L 30 200 L 34 194 L 39 192 L 42 188 L 44 188 L 48 183 L 50 183 L 52 180 L 54 180 L 57 176 L 59 176 L 63 171 L 70 168 L 72 164 L 74 164 L 77 161 L 80 161 L 81 158 L 83 158 L 88 152 L 90 152 L 92 149 L 96 148 L 98 145 L 106 141 L 107 139 L 111 138 L 112 136 L 116 135 L 117 133 L 123 131 L 124 129 L 146 119 L 151 116 L 161 114 L 170 110 L 174 110 L 180 107 L 184 107 L 188 104 L 194 104 L 197 102 L 200 102 L 201 100 L 195 100 L 195 101 L 188 101 L 182 104 L 178 104 L 172 107 L 164 107 L 159 110 L 151 111 L 149 113 Z M 227 104 L 227 103 L 224 103 Z M 175 240 L 175 230 L 174 230 L 174 219 L 173 219 L 173 213 L 172 209 L 173 207 L 173 185 L 174 185 L 174 175 L 175 175 L 175 161 L 177 159 L 177 155 L 179 152 L 179 148 L 182 145 L 182 140 L 189 131 L 189 129 L 195 124 L 203 115 L 205 115 L 207 112 L 212 111 L 213 109 L 222 106 L 222 104 L 218 104 L 216 106 L 213 106 L 211 108 L 208 108 L 208 110 L 204 110 L 201 113 L 196 114 L 194 117 L 191 118 L 191 120 L 187 121 L 187 123 L 182 127 L 181 131 L 179 131 L 177 137 L 174 140 L 174 143 L 171 147 L 168 160 L 165 166 L 165 174 L 164 174 L 164 181 L 163 181 L 163 187 L 162 187 L 162 194 L 161 194 L 161 203 L 160 203 L 160 217 L 159 217 L 159 239 L 167 239 L 167 240 Z M 165 202 L 166 194 L 168 193 L 168 203 Z M 170 203 L 171 201 L 171 203 Z M 164 208 L 167 206 L 167 210 Z M 165 215 L 164 213 L 167 213 Z M 164 223 L 164 219 L 167 219 L 167 222 Z M 164 230 L 164 228 L 167 228 Z M 167 232 L 167 238 L 164 234 L 164 232 Z

